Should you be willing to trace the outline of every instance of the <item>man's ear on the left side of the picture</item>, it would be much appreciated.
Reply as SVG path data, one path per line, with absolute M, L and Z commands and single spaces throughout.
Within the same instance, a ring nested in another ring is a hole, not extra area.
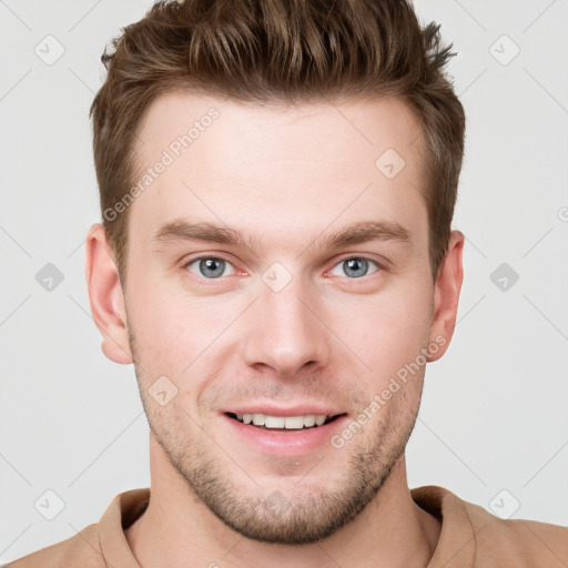
M 85 278 L 93 320 L 102 335 L 102 352 L 115 363 L 132 363 L 122 286 L 101 223 L 89 229 Z

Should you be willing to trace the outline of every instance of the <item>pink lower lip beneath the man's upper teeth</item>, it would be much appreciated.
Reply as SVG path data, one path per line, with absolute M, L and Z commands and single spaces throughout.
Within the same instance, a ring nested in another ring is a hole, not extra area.
M 223 418 L 234 433 L 261 452 L 271 455 L 296 456 L 329 446 L 332 436 L 344 427 L 347 416 L 339 416 L 322 426 L 286 432 L 257 428 L 226 415 L 223 415 Z

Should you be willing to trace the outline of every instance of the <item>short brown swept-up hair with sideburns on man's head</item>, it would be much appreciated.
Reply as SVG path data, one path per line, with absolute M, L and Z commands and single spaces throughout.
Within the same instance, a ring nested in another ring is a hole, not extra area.
M 454 216 L 465 114 L 444 71 L 452 45 L 440 47 L 438 24 L 420 28 L 410 1 L 161 0 L 111 48 L 89 114 L 102 212 L 134 183 L 138 130 L 168 91 L 258 104 L 397 97 L 422 123 L 436 277 Z M 123 286 L 129 209 L 111 220 L 103 213 Z

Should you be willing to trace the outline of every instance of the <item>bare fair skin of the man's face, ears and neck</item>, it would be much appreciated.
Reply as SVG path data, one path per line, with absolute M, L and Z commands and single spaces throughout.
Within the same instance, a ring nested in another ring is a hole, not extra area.
M 434 282 L 418 123 L 393 99 L 275 109 L 170 93 L 140 130 L 143 169 L 211 108 L 130 205 L 126 294 L 102 225 L 88 237 L 102 349 L 134 363 L 151 429 L 151 499 L 126 540 L 144 568 L 425 567 L 440 524 L 413 501 L 404 453 L 425 365 L 369 406 L 420 354 L 439 358 L 456 322 L 464 235 Z M 387 149 L 405 162 L 392 178 L 375 165 Z M 153 240 L 181 219 L 254 239 Z M 407 237 L 323 242 L 374 221 Z M 267 449 L 226 414 L 247 405 L 342 417 L 310 448 Z

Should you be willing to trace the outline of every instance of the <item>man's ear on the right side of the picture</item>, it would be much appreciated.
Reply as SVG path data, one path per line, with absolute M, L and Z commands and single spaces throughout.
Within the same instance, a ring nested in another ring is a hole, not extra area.
M 446 353 L 454 335 L 459 292 L 464 280 L 464 240 L 463 233 L 452 231 L 448 248 L 436 277 L 429 344 L 436 343 L 439 348 L 428 356 L 428 362 L 439 359 Z

